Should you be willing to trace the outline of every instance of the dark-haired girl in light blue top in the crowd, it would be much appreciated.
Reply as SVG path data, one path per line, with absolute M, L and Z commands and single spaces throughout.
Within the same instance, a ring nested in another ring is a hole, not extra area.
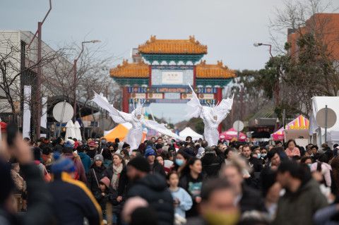
M 191 209 L 193 205 L 191 195 L 184 188 L 178 187 L 179 176 L 176 171 L 169 172 L 167 183 L 174 201 L 174 214 L 176 217 L 186 218 L 186 211 Z

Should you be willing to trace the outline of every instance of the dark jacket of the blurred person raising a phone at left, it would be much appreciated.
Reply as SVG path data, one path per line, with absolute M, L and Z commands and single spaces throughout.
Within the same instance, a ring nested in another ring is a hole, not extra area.
M 0 160 L 0 164 L 1 169 L 4 168 L 4 162 Z M 20 165 L 20 170 L 27 181 L 27 190 L 28 193 L 30 193 L 30 195 L 28 195 L 28 202 L 30 202 L 32 207 L 30 207 L 25 214 L 11 214 L 3 208 L 4 205 L 0 205 L 0 224 L 52 224 L 52 199 L 47 190 L 47 183 L 44 183 L 39 169 L 37 169 L 37 166 L 34 164 L 25 164 Z M 4 183 L 1 183 L 1 186 L 4 185 Z

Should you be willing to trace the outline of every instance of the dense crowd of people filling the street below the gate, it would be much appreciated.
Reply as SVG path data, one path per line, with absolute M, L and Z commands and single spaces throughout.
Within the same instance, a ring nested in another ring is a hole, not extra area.
M 339 224 L 338 150 L 16 138 L 1 147 L 0 224 Z

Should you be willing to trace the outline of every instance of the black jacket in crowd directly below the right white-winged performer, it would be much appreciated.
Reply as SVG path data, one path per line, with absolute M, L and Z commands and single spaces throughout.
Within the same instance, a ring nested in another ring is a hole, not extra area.
M 222 153 L 215 155 L 214 153 L 207 152 L 201 158 L 201 164 L 203 165 L 203 172 L 206 174 L 207 178 L 214 178 L 219 175 L 222 162 L 224 162 L 224 157 Z

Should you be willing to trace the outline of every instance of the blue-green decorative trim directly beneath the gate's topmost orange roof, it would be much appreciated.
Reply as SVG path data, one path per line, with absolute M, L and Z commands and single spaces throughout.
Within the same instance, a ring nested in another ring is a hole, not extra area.
M 203 54 L 141 54 L 146 61 L 150 63 L 162 63 L 165 61 L 166 63 L 170 63 L 174 61 L 174 63 L 179 63 L 180 61 L 185 64 L 189 61 L 192 63 L 196 63 L 203 58 Z

